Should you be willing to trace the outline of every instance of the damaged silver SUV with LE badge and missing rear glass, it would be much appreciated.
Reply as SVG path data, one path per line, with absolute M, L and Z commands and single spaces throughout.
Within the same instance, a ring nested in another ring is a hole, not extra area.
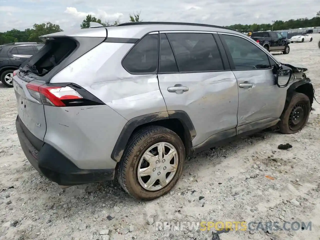
M 71 186 L 112 180 L 135 198 L 166 194 L 186 156 L 268 127 L 307 123 L 307 69 L 235 30 L 124 23 L 41 37 L 13 76 L 29 162 Z

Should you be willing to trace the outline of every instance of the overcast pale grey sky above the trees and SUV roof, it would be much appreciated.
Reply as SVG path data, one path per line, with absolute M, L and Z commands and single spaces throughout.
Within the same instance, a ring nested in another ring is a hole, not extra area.
M 0 32 L 52 22 L 63 30 L 80 28 L 86 15 L 102 20 L 129 20 L 140 12 L 144 21 L 180 21 L 214 25 L 271 23 L 312 18 L 320 0 L 0 0 Z

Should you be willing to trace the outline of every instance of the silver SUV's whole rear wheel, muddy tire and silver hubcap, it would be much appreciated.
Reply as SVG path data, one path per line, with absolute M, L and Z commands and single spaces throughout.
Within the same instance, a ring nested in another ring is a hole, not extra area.
M 175 132 L 149 126 L 130 138 L 117 167 L 117 178 L 134 198 L 156 199 L 175 186 L 185 158 L 183 142 Z

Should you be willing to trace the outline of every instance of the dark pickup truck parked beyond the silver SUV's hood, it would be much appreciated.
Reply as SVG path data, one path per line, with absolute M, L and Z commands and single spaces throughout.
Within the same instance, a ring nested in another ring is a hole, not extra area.
M 255 32 L 252 33 L 251 38 L 262 45 L 269 52 L 283 52 L 288 54 L 290 52 L 290 41 L 278 32 Z

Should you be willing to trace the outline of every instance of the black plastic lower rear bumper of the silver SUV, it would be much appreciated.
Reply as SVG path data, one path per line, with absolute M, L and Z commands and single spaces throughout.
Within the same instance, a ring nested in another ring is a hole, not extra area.
M 113 180 L 115 169 L 80 169 L 49 144 L 37 139 L 16 119 L 21 148 L 31 165 L 44 177 L 59 185 L 79 185 Z

